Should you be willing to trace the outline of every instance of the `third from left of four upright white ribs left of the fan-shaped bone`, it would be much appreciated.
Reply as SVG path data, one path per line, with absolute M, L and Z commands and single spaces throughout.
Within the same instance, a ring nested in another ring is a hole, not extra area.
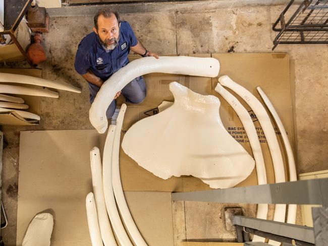
M 133 246 L 128 234 L 125 231 L 122 220 L 120 218 L 119 211 L 116 207 L 113 183 L 112 183 L 112 152 L 114 144 L 114 136 L 116 132 L 116 126 L 110 125 L 105 140 L 105 146 L 103 148 L 102 156 L 102 182 L 103 191 L 105 197 L 105 203 L 108 216 L 110 217 L 113 231 L 118 239 L 118 242 L 124 246 Z

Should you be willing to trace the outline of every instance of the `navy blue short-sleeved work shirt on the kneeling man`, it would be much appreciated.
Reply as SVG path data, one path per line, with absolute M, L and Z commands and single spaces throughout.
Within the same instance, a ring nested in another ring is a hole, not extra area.
M 121 21 L 119 45 L 108 52 L 102 47 L 98 35 L 92 32 L 79 43 L 75 56 L 75 70 L 81 75 L 90 70 L 95 76 L 105 81 L 129 63 L 130 47 L 137 43 L 138 40 L 127 21 Z M 89 87 L 99 88 L 88 83 Z

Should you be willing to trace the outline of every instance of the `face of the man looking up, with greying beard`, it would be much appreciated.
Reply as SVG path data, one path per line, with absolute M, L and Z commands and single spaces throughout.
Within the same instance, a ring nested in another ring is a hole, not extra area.
M 119 45 L 120 26 L 116 16 L 112 14 L 111 17 L 98 17 L 98 30 L 93 27 L 93 31 L 98 34 L 102 46 L 107 50 L 112 50 Z

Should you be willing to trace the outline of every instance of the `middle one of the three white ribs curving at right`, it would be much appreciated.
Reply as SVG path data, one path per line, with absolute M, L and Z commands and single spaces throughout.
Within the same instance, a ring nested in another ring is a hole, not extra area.
M 226 86 L 236 92 L 254 111 L 256 117 L 262 127 L 264 132 L 267 145 L 270 150 L 272 163 L 275 169 L 275 179 L 276 182 L 285 182 L 285 169 L 283 156 L 280 151 L 278 139 L 274 130 L 274 127 L 271 124 L 269 115 L 267 114 L 265 108 L 260 103 L 260 101 L 248 90 L 246 90 L 241 85 L 234 82 L 227 75 L 220 77 L 219 79 L 221 85 Z M 286 216 L 286 204 L 277 204 L 275 209 L 274 220 L 279 222 L 285 222 Z M 272 245 L 280 245 L 280 242 L 275 242 L 269 240 Z

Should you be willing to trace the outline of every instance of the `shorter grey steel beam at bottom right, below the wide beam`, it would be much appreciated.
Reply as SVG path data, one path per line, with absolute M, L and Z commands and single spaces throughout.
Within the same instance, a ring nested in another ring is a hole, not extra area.
M 295 239 L 296 241 L 313 244 L 315 243 L 314 231 L 312 227 L 287 224 L 265 219 L 248 218 L 240 215 L 234 216 L 233 223 L 238 226 L 244 226 L 254 230 L 259 230 L 261 232 L 267 232 L 277 236 Z M 254 233 L 254 231 L 249 232 Z

